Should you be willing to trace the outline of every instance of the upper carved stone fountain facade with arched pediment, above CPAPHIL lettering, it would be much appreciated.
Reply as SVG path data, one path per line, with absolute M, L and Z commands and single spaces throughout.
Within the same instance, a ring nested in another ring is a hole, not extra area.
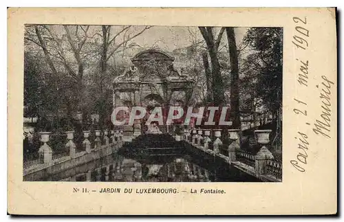
M 187 104 L 193 80 L 173 67 L 174 58 L 155 49 L 140 52 L 133 65 L 114 79 L 115 107 Z

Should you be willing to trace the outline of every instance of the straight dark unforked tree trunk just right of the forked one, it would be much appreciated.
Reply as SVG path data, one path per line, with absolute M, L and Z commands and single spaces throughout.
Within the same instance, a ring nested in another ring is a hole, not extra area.
M 240 122 L 239 107 L 239 63 L 237 54 L 237 43 L 235 42 L 235 32 L 233 27 L 226 27 L 228 39 L 228 52 L 230 59 L 230 114 L 233 119 L 233 128 L 238 129 Z

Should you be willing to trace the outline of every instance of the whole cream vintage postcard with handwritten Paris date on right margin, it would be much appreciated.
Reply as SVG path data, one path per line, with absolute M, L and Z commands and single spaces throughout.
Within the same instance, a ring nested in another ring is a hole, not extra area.
M 8 213 L 336 214 L 335 8 L 9 8 Z

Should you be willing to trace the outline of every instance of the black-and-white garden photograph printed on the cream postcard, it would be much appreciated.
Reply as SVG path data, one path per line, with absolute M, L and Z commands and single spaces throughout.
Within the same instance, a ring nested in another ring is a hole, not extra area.
M 283 27 L 26 24 L 23 181 L 281 182 Z

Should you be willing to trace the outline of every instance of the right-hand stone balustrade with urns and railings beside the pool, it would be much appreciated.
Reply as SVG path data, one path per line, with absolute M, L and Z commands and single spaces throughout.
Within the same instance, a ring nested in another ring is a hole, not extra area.
M 256 130 L 255 139 L 261 146 L 256 155 L 248 153 L 241 149 L 241 131 L 239 129 L 228 129 L 228 147 L 224 147 L 222 142 L 222 129 L 186 129 L 185 141 L 204 151 L 225 157 L 230 164 L 242 167 L 252 168 L 251 175 L 255 175 L 266 181 L 281 181 L 282 164 L 275 161 L 267 145 L 270 143 L 269 135 L 271 130 Z M 214 135 L 212 137 L 211 135 Z M 212 145 L 212 146 L 211 146 Z M 211 150 L 212 148 L 212 150 Z M 222 149 L 228 151 L 228 156 L 220 153 Z M 244 164 L 244 165 L 243 165 Z M 273 178 L 271 177 L 273 176 Z M 267 179 L 269 178 L 270 179 Z

